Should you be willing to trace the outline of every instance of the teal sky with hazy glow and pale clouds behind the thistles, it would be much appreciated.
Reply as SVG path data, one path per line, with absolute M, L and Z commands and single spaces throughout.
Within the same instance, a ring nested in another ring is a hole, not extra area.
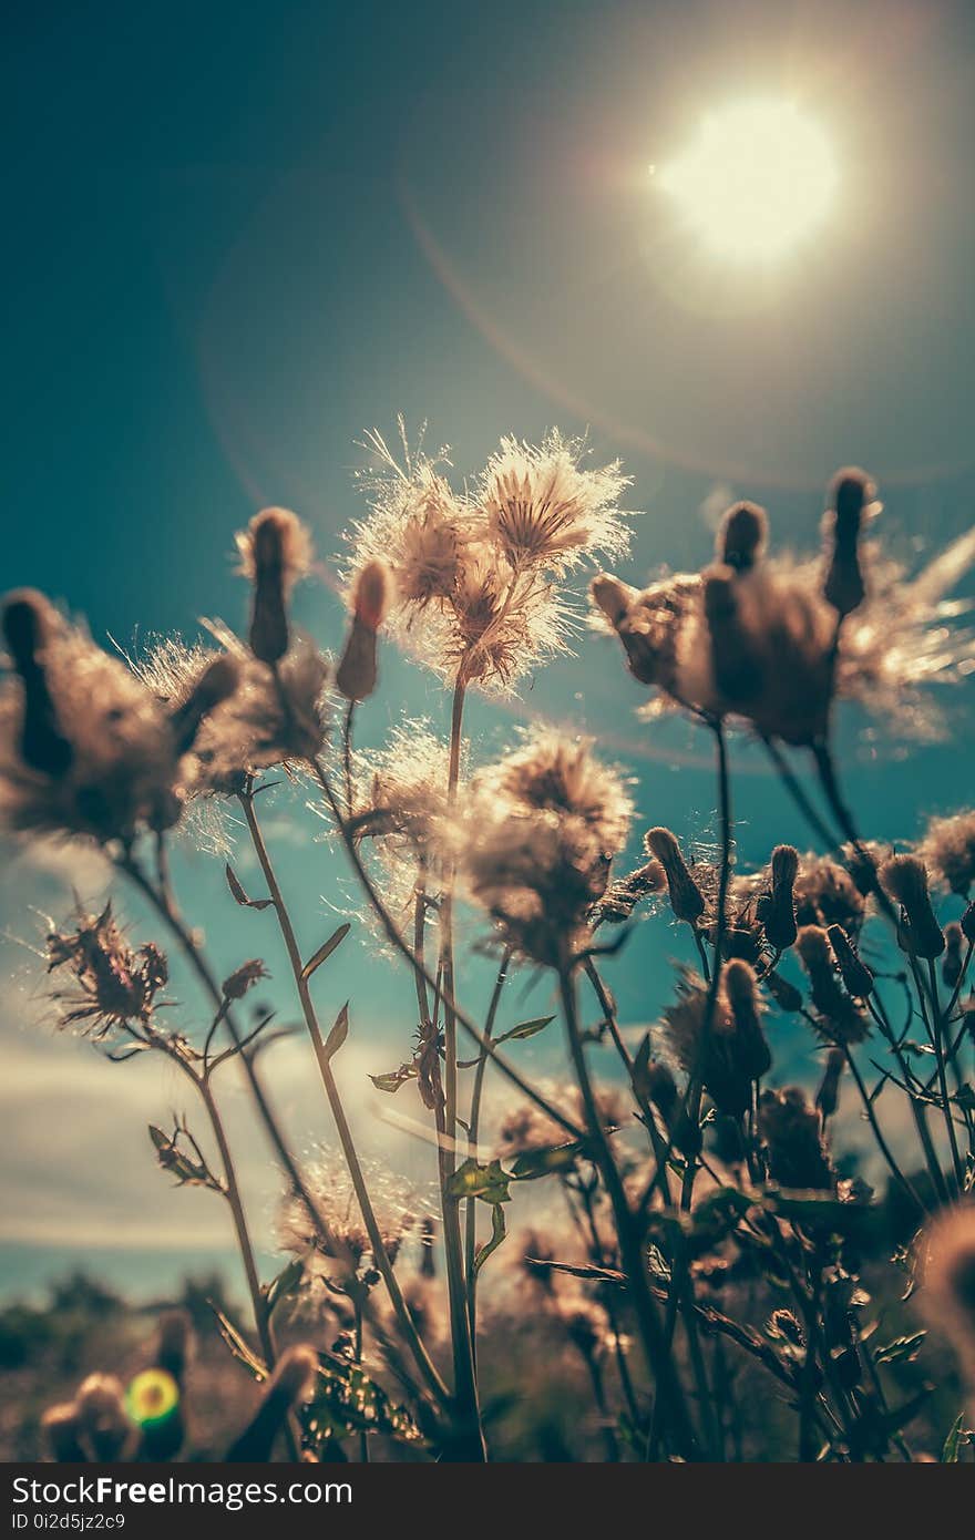
M 148 0 L 20 8 L 9 34 L 0 584 L 45 588 L 102 642 L 194 636 L 200 616 L 240 625 L 233 533 L 282 504 L 320 557 L 300 622 L 334 647 L 334 557 L 364 511 L 360 440 L 371 427 L 394 436 L 400 413 L 413 442 L 427 424 L 428 447 L 450 445 L 457 476 L 504 433 L 588 433 L 598 459 L 622 457 L 645 510 L 622 573 L 633 581 L 701 565 L 733 496 L 767 504 L 778 547 L 813 547 L 823 488 L 847 462 L 876 476 L 883 534 L 903 559 L 970 525 L 970 6 Z M 838 194 L 787 260 L 729 268 L 693 245 L 650 166 L 710 108 L 755 94 L 816 117 Z M 593 733 L 639 778 L 639 827 L 668 824 L 704 850 L 710 745 L 690 724 L 641 724 L 641 699 L 610 644 L 582 633 L 519 701 L 474 704 L 471 733 L 479 753 L 536 715 Z M 950 747 L 841 724 L 869 835 L 910 838 L 963 795 L 970 685 L 950 705 Z M 387 653 L 362 716 L 368 747 L 404 716 L 442 722 L 442 690 Z M 300 796 L 274 796 L 268 833 L 313 950 L 354 893 Z M 735 807 L 742 862 L 798 838 L 747 745 Z M 243 850 L 234 862 L 256 881 Z M 5 867 L 0 1291 L 34 1286 L 68 1254 L 126 1280 L 132 1255 L 160 1280 L 186 1255 L 223 1257 L 216 1200 L 171 1190 L 152 1167 L 145 1124 L 174 1104 L 168 1072 L 108 1066 L 51 1032 L 29 949 L 72 890 L 99 896 L 102 873 L 51 853 L 6 852 Z M 237 910 L 219 864 L 189 847 L 176 873 L 226 970 L 266 958 L 265 998 L 286 1019 L 266 916 Z M 131 899 L 123 909 L 134 933 L 152 933 Z M 470 939 L 476 1006 L 488 964 Z M 658 922 L 615 962 L 635 1033 L 665 1001 L 675 955 L 679 938 Z M 550 986 L 525 989 L 510 1009 L 542 1013 Z M 408 979 L 357 926 L 319 990 L 323 1018 L 351 999 L 340 1078 L 364 1147 L 425 1181 L 428 1147 L 380 1121 L 367 1081 L 407 1056 Z M 179 970 L 174 993 L 199 1026 Z M 328 1146 L 303 1043 L 274 1052 L 296 1147 Z M 558 1073 L 559 1043 L 521 1044 L 521 1060 Z M 781 1063 L 815 1073 L 801 1041 L 782 1040 Z M 276 1178 L 228 1095 L 266 1241 Z

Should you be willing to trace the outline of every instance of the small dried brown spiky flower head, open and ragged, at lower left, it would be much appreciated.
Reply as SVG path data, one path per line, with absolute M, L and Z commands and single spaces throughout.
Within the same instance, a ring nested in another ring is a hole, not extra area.
M 168 981 L 165 955 L 152 942 L 132 949 L 111 912 L 79 913 L 77 929 L 48 936 L 48 972 L 68 969 L 77 995 L 55 993 L 65 1026 L 80 1026 L 100 1043 L 111 1032 L 143 1026 Z

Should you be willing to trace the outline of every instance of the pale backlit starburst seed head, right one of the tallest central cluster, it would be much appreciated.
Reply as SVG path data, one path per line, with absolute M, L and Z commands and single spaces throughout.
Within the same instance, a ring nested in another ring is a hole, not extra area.
M 628 550 L 618 508 L 628 480 L 618 460 L 602 470 L 582 470 L 581 451 L 579 440 L 550 433 L 538 448 L 502 439 L 488 460 L 474 500 L 488 539 L 513 571 L 561 573 L 584 556 L 622 556 Z

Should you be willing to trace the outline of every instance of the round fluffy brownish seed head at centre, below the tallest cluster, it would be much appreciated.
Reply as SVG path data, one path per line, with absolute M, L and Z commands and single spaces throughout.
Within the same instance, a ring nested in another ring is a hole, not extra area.
M 456 858 L 467 892 L 510 946 L 559 966 L 607 890 L 630 815 L 619 776 L 587 741 L 536 730 L 474 776 L 459 808 Z

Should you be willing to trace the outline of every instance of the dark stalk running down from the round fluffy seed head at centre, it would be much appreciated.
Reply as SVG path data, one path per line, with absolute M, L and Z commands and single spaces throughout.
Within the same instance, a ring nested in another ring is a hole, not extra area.
M 616 1220 L 619 1254 L 627 1277 L 630 1298 L 633 1301 L 633 1312 L 636 1315 L 647 1369 L 656 1384 L 658 1397 L 662 1398 L 664 1415 L 670 1435 L 673 1437 L 675 1448 L 685 1460 L 698 1460 L 699 1445 L 687 1411 L 684 1389 L 675 1368 L 673 1354 L 665 1343 L 656 1304 L 650 1292 L 647 1255 L 642 1235 L 639 1234 L 635 1217 L 630 1212 L 630 1204 L 627 1201 L 622 1180 L 616 1169 L 616 1161 L 599 1116 L 599 1107 L 596 1104 L 596 1096 L 588 1075 L 582 1035 L 579 1030 L 575 978 L 568 956 L 562 959 L 562 966 L 559 967 L 559 992 L 562 996 L 568 1052 L 576 1072 L 576 1080 L 579 1083 L 582 1106 L 585 1107 L 585 1120 L 593 1155 Z

